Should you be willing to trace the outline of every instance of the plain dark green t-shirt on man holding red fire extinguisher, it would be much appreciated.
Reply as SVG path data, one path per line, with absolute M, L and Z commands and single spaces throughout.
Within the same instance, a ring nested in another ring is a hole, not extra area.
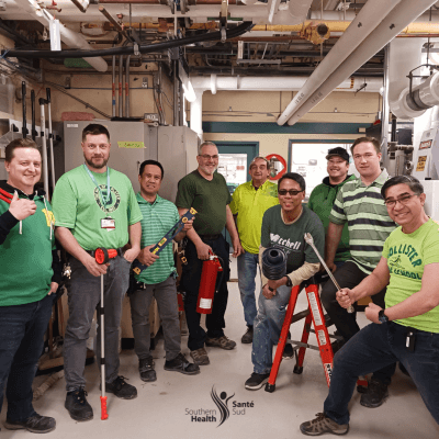
M 198 213 L 193 228 L 199 235 L 218 235 L 226 225 L 226 205 L 230 204 L 224 177 L 214 172 L 206 180 L 198 170 L 188 173 L 178 183 L 177 207 L 193 207 Z

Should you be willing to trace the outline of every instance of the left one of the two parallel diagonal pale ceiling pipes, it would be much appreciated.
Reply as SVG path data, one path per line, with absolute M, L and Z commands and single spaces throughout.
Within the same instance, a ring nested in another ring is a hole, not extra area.
M 327 77 L 337 70 L 338 66 L 354 52 L 361 42 L 380 24 L 378 16 L 386 16 L 402 0 L 369 0 L 341 38 L 325 56 L 319 66 L 311 75 L 305 86 L 289 103 L 278 119 L 278 125 L 283 125 L 297 109 L 306 102 L 312 93 L 320 87 Z M 344 78 L 342 80 L 345 80 Z

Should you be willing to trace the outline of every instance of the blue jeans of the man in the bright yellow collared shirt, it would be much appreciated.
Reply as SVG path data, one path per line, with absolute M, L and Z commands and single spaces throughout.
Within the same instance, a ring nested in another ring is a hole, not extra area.
M 256 272 L 259 264 L 259 254 L 249 254 L 245 251 L 237 258 L 238 261 L 238 286 L 240 300 L 244 306 L 244 318 L 247 326 L 252 326 L 256 318 Z

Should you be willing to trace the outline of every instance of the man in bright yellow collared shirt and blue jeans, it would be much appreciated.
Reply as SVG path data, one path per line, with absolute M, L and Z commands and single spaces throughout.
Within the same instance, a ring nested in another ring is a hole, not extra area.
M 262 216 L 267 209 L 279 204 L 278 184 L 268 179 L 269 161 L 264 157 L 255 157 L 248 173 L 251 180 L 236 188 L 230 203 L 244 249 L 237 261 L 238 286 L 247 324 L 247 331 L 240 339 L 243 344 L 254 340 L 254 320 L 257 314 L 255 277 L 259 264 Z

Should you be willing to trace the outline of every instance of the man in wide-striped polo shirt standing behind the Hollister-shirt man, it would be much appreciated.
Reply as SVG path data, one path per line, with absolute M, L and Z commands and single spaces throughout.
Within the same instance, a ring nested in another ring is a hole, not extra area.
M 381 170 L 381 148 L 373 137 L 360 137 L 351 146 L 353 162 L 360 178 L 348 181 L 338 192 L 329 214 L 326 235 L 325 260 L 335 271 L 334 258 L 345 223 L 348 223 L 351 258 L 334 275 L 341 288 L 352 289 L 367 278 L 381 259 L 383 245 L 396 225 L 387 214 L 381 188 L 389 179 L 387 171 Z M 356 335 L 360 327 L 356 313 L 349 314 L 336 300 L 337 288 L 333 281 L 325 283 L 322 302 L 345 342 Z M 385 288 L 372 296 L 372 301 L 384 307 Z M 360 404 L 379 407 L 387 396 L 387 386 L 395 372 L 395 364 L 374 372 L 367 393 Z

